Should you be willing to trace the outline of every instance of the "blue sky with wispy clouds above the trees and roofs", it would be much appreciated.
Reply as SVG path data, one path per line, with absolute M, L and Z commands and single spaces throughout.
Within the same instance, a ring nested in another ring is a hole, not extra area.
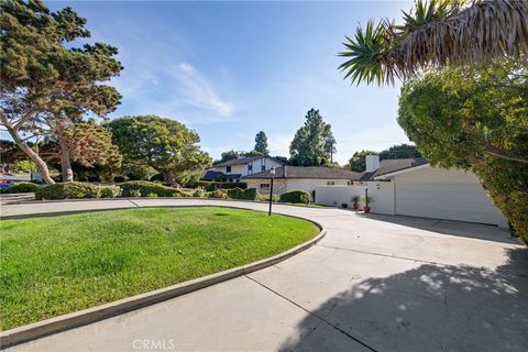
M 112 80 L 123 96 L 110 118 L 158 114 L 200 134 L 211 156 L 251 150 L 268 136 L 272 155 L 319 109 L 345 163 L 362 148 L 408 142 L 396 122 L 399 85 L 351 86 L 337 67 L 358 23 L 399 19 L 409 1 L 113 2 L 48 1 L 88 19 L 90 42 L 119 48 Z

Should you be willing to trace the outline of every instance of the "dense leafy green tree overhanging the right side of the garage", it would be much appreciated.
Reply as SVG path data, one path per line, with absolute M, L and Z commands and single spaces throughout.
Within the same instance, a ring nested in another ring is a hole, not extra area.
M 471 168 L 528 242 L 528 67 L 433 70 L 402 88 L 398 122 L 432 165 Z

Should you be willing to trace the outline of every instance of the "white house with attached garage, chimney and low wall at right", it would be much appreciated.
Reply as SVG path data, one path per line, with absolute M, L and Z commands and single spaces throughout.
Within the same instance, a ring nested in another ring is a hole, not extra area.
M 507 227 L 475 174 L 432 167 L 424 158 L 366 157 L 366 169 L 352 185 L 317 187 L 321 205 L 346 204 L 353 196 L 372 197 L 371 212 L 458 220 Z

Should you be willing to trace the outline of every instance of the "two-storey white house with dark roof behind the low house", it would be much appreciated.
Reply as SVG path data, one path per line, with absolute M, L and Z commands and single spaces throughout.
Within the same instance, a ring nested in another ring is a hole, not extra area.
M 243 178 L 244 176 L 262 173 L 272 167 L 277 168 L 280 166 L 283 166 L 283 163 L 267 155 L 239 157 L 208 168 L 201 177 L 201 180 L 224 179 L 227 182 L 245 183 L 245 179 Z

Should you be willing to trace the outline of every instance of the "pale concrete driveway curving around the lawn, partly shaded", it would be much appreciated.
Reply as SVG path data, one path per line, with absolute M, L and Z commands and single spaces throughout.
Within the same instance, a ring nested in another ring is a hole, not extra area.
M 2 215 L 252 202 L 18 205 Z M 528 253 L 502 229 L 275 206 L 327 237 L 275 266 L 12 351 L 527 351 Z

